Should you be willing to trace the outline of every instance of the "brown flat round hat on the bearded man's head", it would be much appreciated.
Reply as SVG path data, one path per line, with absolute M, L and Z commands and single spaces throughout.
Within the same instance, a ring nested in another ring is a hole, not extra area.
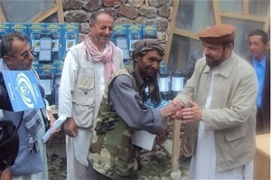
M 235 26 L 218 24 L 199 31 L 198 36 L 203 43 L 229 43 L 235 38 Z

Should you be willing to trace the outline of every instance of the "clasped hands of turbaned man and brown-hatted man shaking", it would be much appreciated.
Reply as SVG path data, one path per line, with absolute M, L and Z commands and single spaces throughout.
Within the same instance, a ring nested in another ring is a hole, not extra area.
M 161 109 L 161 114 L 163 119 L 175 118 L 185 122 L 197 122 L 202 118 L 202 109 L 192 100 L 189 100 L 189 106 L 187 106 L 181 99 L 175 98 L 164 109 Z

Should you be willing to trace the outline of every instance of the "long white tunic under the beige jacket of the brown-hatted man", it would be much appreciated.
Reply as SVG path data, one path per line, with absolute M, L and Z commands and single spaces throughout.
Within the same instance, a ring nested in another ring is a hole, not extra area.
M 204 109 L 211 109 L 213 79 L 216 73 L 215 68 L 210 72 L 210 88 Z M 202 121 L 197 142 L 195 154 L 192 156 L 189 179 L 253 179 L 253 161 L 246 166 L 239 166 L 229 171 L 219 172 L 217 170 L 214 130 L 205 130 Z

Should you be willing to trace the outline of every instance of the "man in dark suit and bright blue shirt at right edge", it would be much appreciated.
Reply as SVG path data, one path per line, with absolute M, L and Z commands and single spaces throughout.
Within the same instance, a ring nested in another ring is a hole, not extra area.
M 251 52 L 248 62 L 255 69 L 258 81 L 256 133 L 270 133 L 270 46 L 268 34 L 259 29 L 252 31 L 248 34 L 248 47 Z

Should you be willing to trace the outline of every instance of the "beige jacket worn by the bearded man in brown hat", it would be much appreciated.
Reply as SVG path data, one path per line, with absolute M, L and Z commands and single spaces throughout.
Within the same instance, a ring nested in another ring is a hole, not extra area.
M 248 62 L 233 52 L 226 62 L 217 67 L 213 86 L 211 107 L 202 109 L 201 122 L 204 126 L 201 125 L 202 131 L 199 133 L 213 131 L 210 137 L 214 139 L 212 155 L 215 156 L 215 169 L 218 172 L 229 171 L 247 165 L 255 155 L 257 77 Z M 192 78 L 187 81 L 177 98 L 182 99 L 186 106 L 190 106 L 188 100 L 191 99 L 205 107 L 209 88 L 210 67 L 205 58 L 202 58 L 196 63 Z M 197 125 L 199 124 L 194 126 L 196 132 Z M 197 141 L 198 135 L 194 134 L 193 147 L 196 142 L 196 146 L 206 143 L 205 139 Z M 199 137 L 203 134 L 199 134 Z M 210 152 L 210 148 L 208 151 Z M 204 166 L 209 162 L 210 159 Z

